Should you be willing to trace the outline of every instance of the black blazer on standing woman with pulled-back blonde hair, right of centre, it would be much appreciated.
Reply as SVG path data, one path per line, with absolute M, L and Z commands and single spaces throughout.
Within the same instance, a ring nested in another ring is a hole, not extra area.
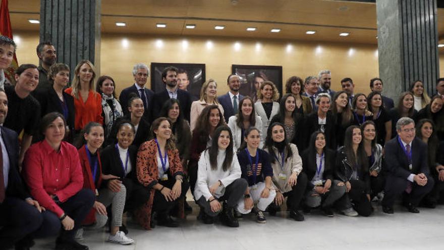
M 317 112 L 313 112 L 307 116 L 305 119 L 305 135 L 303 135 L 305 136 L 305 145 L 308 145 L 311 134 L 316 130 L 320 130 L 320 127 L 321 125 L 318 124 Z M 337 148 L 335 128 L 336 118 L 331 114 L 331 111 L 328 111 L 326 116 L 326 124 L 324 125 L 324 133 L 327 143 L 326 146 L 333 150 L 336 150 Z

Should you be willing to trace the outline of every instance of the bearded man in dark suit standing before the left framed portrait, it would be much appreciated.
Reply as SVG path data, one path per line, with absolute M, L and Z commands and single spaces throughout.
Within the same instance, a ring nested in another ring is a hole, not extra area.
M 162 71 L 162 81 L 165 83 L 165 89 L 160 90 L 154 94 L 152 105 L 152 120 L 159 117 L 160 110 L 163 107 L 165 101 L 170 98 L 178 99 L 180 103 L 180 111 L 184 118 L 190 121 L 191 111 L 191 95 L 185 90 L 178 88 L 177 86 L 177 72 L 176 67 L 167 67 Z M 152 122 L 152 120 L 150 122 Z

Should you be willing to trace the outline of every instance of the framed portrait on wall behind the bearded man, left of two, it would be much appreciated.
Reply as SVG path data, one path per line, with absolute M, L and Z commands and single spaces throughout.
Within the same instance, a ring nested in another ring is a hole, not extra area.
M 198 100 L 200 88 L 205 82 L 205 64 L 151 63 L 151 90 L 158 92 L 165 88 L 162 81 L 162 71 L 169 66 L 179 69 L 177 80 L 179 88 L 187 90 L 191 94 L 192 101 Z

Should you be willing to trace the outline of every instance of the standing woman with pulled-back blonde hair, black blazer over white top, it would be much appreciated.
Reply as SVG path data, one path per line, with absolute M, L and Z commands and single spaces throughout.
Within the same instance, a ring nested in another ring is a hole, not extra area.
M 309 136 L 314 131 L 320 130 L 325 134 L 325 145 L 336 150 L 336 119 L 331 114 L 330 109 L 330 95 L 327 93 L 320 93 L 316 97 L 316 105 L 318 106 L 317 112 L 313 112 L 307 116 L 305 120 L 305 145 L 308 145 Z

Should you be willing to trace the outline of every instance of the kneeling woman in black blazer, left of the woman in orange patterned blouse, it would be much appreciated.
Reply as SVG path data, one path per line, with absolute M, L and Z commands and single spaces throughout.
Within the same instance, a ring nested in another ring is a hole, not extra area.
M 140 184 L 136 177 L 137 147 L 131 145 L 134 125 L 128 120 L 121 120 L 116 126 L 117 143 L 108 145 L 100 152 L 100 161 L 102 174 L 119 178 L 103 180 L 102 188 L 117 191 L 120 183 L 124 184 L 127 190 L 124 211 L 133 211 L 148 201 L 149 189 Z

